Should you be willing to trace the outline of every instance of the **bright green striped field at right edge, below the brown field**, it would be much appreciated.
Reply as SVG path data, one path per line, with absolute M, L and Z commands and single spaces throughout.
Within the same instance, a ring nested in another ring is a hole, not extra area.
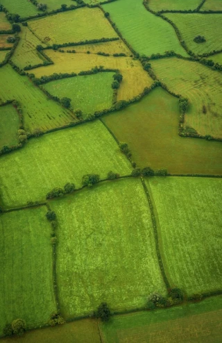
M 164 266 L 187 294 L 221 289 L 221 178 L 151 178 Z

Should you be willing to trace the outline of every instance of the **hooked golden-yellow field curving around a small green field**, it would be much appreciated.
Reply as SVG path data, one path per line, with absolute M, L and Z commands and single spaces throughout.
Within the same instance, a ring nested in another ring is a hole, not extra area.
M 37 78 L 53 73 L 79 73 L 100 65 L 105 68 L 119 69 L 123 75 L 123 81 L 117 92 L 117 100 L 132 99 L 141 93 L 144 87 L 149 87 L 153 83 L 141 63 L 130 57 L 106 57 L 94 53 L 60 53 L 51 49 L 46 53 L 55 64 L 32 69 L 32 73 Z

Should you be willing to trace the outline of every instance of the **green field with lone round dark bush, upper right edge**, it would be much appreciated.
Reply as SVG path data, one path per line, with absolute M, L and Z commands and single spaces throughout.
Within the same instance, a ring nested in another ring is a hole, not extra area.
M 194 53 L 221 50 L 222 37 L 217 33 L 221 31 L 222 14 L 166 13 L 166 17 L 176 24 L 188 49 Z M 194 42 L 197 35 L 203 35 L 206 42 Z

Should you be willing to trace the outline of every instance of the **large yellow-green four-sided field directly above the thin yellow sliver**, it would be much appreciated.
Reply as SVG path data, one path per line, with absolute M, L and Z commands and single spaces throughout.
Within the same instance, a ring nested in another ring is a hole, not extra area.
M 96 25 L 95 25 L 96 22 Z M 99 8 L 79 8 L 50 17 L 32 20 L 28 27 L 47 44 L 63 44 L 117 37 Z

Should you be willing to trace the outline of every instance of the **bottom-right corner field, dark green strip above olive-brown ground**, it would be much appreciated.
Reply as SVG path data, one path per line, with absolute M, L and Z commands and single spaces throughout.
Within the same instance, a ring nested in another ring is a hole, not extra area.
M 115 316 L 101 324 L 104 343 L 221 342 L 222 296 L 166 310 Z

